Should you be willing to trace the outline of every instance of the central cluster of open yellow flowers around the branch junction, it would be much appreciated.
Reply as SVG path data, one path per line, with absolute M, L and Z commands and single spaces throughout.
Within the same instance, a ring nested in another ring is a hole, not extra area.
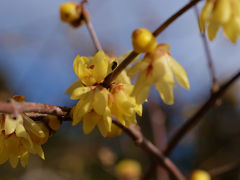
M 112 71 L 115 60 L 103 51 L 92 58 L 77 56 L 74 60 L 73 68 L 79 80 L 69 87 L 67 93 L 71 94 L 71 99 L 79 99 L 72 109 L 73 125 L 83 121 L 85 134 L 97 126 L 104 137 L 110 136 L 112 115 L 123 125 L 129 125 L 136 123 L 136 112 L 140 114 L 142 107 L 130 96 L 133 88 L 126 72 L 122 72 L 110 88 L 101 85 Z M 125 106 L 129 107 L 127 111 Z

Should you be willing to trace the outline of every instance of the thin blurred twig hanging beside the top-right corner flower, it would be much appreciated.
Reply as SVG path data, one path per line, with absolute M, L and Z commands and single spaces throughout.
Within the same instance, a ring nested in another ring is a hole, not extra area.
M 195 12 L 196 17 L 198 19 L 199 10 L 198 10 L 197 6 L 194 7 L 194 12 Z M 219 84 L 218 84 L 217 76 L 216 76 L 216 70 L 215 70 L 215 67 L 214 67 L 213 58 L 212 58 L 212 55 L 211 55 L 210 47 L 209 47 L 209 44 L 208 44 L 207 37 L 206 37 L 205 33 L 201 34 L 201 39 L 202 39 L 202 42 L 203 42 L 203 46 L 204 46 L 204 50 L 205 50 L 205 54 L 206 54 L 206 59 L 208 61 L 209 72 L 210 72 L 211 77 L 212 77 L 211 93 L 213 93 L 213 92 L 216 92 L 219 89 Z

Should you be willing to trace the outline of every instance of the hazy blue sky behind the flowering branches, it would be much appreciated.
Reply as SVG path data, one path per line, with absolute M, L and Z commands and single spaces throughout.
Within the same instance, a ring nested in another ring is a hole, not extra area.
M 71 103 L 64 91 L 76 79 L 72 62 L 77 54 L 90 56 L 95 52 L 86 27 L 72 29 L 60 22 L 58 8 L 62 2 L 0 1 L 0 70 L 10 90 L 25 95 L 29 101 Z M 134 29 L 154 30 L 187 2 L 90 0 L 86 7 L 103 48 L 121 55 L 131 50 Z M 176 87 L 175 106 L 206 99 L 211 78 L 194 11 L 180 17 L 158 41 L 171 45 L 172 56 L 189 75 L 191 90 Z M 220 80 L 239 69 L 239 43 L 233 45 L 219 33 L 210 48 Z

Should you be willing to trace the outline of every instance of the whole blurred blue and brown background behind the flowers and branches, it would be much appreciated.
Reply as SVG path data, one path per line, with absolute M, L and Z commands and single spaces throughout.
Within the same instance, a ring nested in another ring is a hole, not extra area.
M 33 102 L 62 106 L 76 103 L 64 94 L 77 79 L 73 60 L 77 54 L 94 55 L 95 48 L 85 26 L 73 29 L 60 21 L 59 6 L 63 2 L 66 1 L 0 1 L 1 100 L 20 94 Z M 86 8 L 103 49 L 120 56 L 132 49 L 130 37 L 134 29 L 146 27 L 153 31 L 187 2 L 89 0 Z M 203 2 L 199 8 L 202 5 Z M 150 101 L 154 103 L 144 106 L 143 117 L 139 118 L 143 133 L 163 146 L 166 137 L 207 100 L 211 76 L 193 10 L 157 39 L 171 46 L 172 56 L 186 69 L 191 85 L 189 91 L 179 86 L 174 89 L 173 106 L 163 104 L 153 88 Z M 219 82 L 239 70 L 239 48 L 239 43 L 231 44 L 221 32 L 210 43 Z M 200 168 L 211 172 L 213 179 L 240 179 L 239 82 L 220 101 L 221 105 L 212 108 L 171 155 L 185 174 Z M 153 132 L 156 118 L 165 127 L 155 128 Z M 123 159 L 138 161 L 142 173 L 152 164 L 127 136 L 104 139 L 96 130 L 85 136 L 81 127 L 72 127 L 70 123 L 64 123 L 43 148 L 45 161 L 32 156 L 26 169 L 20 165 L 12 169 L 8 163 L 1 165 L 0 179 L 116 179 L 115 165 Z M 154 172 L 151 178 L 157 179 Z

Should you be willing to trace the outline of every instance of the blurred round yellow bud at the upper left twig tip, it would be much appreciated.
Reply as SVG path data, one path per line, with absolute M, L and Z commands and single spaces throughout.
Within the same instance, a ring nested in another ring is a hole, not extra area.
M 79 19 L 78 3 L 66 2 L 60 6 L 60 16 L 63 22 L 72 23 Z

